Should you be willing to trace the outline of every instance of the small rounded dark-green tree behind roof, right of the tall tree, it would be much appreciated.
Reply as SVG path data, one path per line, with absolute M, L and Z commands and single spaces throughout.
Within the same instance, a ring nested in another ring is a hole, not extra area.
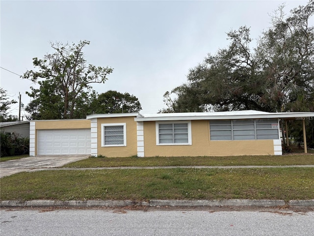
M 92 102 L 91 108 L 92 114 L 133 113 L 142 109 L 139 100 L 134 95 L 113 90 L 98 95 Z

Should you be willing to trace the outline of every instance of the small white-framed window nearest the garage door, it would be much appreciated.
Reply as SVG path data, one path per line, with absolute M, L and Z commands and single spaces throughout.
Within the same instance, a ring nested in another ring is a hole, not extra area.
M 126 123 L 102 124 L 102 147 L 127 146 Z

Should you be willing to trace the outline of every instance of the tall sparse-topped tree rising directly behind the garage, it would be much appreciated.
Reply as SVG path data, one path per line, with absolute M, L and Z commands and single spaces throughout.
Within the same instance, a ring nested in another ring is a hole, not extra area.
M 26 71 L 23 76 L 39 85 L 39 89 L 31 87 L 32 91 L 27 92 L 33 98 L 26 107 L 32 119 L 85 118 L 96 94 L 91 85 L 105 83 L 113 71 L 108 66 L 86 63 L 83 48 L 89 43 L 51 43 L 53 54 L 33 58 L 37 70 Z

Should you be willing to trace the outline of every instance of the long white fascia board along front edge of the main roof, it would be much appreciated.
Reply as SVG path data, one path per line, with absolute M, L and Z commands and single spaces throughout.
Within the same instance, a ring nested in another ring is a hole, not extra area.
M 175 113 L 173 113 L 175 114 Z M 197 116 L 183 116 L 183 113 L 180 113 L 178 116 L 150 116 L 143 118 L 134 118 L 135 121 L 165 121 L 165 120 L 213 120 L 213 119 L 259 119 L 259 118 L 307 118 L 314 117 L 314 112 L 288 112 L 288 113 L 263 113 L 263 114 L 238 114 L 238 115 L 218 115 L 219 112 L 212 115 L 201 115 Z M 158 114 L 159 115 L 159 114 Z

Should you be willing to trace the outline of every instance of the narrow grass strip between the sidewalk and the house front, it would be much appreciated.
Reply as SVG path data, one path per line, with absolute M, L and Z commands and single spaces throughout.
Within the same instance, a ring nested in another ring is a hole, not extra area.
M 114 157 L 88 158 L 63 166 L 64 168 L 121 166 L 285 166 L 314 165 L 313 154 L 283 156 L 198 156 L 198 157 Z

